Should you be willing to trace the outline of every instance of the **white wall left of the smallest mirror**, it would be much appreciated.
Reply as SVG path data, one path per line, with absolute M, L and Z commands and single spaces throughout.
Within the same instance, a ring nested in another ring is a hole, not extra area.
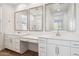
M 14 10 L 12 7 L 7 5 L 2 6 L 2 19 L 2 32 L 14 32 Z

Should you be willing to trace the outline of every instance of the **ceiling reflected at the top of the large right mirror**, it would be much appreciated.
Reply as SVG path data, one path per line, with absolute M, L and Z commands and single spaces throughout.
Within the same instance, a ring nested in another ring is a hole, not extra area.
M 49 4 L 47 5 L 47 8 L 51 11 L 51 13 L 55 12 L 65 12 L 69 9 L 71 4 Z

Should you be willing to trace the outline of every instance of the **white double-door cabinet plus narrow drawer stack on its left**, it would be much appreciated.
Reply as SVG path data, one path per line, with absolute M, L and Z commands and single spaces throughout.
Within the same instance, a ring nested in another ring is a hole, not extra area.
M 70 41 L 57 39 L 39 39 L 40 56 L 70 56 Z

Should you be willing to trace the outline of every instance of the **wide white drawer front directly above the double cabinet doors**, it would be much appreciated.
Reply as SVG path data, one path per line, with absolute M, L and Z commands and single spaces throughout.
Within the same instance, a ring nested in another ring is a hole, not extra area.
M 48 39 L 47 44 L 57 44 L 57 45 L 70 46 L 70 41 Z

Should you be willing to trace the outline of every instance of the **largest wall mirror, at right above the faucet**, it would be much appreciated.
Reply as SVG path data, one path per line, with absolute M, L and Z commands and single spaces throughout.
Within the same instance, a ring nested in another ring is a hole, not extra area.
M 75 6 L 73 3 L 46 4 L 46 31 L 75 31 Z

